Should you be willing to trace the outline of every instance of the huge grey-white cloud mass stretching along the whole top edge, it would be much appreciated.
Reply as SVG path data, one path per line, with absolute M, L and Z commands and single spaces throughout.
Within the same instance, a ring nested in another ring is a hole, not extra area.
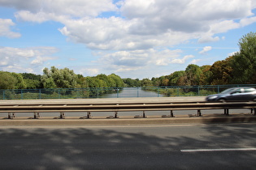
M 217 33 L 254 23 L 253 0 L 56 0 L 4 1 L 15 16 L 31 22 L 54 20 L 68 40 L 90 49 L 135 50 L 218 41 Z M 239 6 L 239 7 L 237 7 Z M 115 16 L 102 18 L 102 13 Z

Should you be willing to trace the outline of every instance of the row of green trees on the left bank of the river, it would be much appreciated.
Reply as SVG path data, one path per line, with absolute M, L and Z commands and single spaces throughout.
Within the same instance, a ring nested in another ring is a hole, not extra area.
M 39 89 L 39 88 L 85 88 L 85 87 L 124 87 L 124 81 L 116 74 L 98 74 L 84 77 L 68 68 L 45 68 L 43 74 L 11 73 L 0 71 L 0 89 Z

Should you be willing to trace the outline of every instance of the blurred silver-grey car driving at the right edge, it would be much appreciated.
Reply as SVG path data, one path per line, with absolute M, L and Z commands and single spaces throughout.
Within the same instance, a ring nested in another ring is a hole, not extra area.
M 206 101 L 256 100 L 256 89 L 253 87 L 233 87 L 219 94 L 206 96 Z

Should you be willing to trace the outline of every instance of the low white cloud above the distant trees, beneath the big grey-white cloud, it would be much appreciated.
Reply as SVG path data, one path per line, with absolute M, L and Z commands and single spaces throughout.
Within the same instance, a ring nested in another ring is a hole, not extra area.
M 182 57 L 180 49 L 141 49 L 133 51 L 118 51 L 115 53 L 99 53 L 100 55 L 95 66 L 100 72 L 123 74 L 124 77 L 137 77 L 140 74 L 159 74 L 158 68 L 171 68 L 175 64 L 188 62 L 193 55 Z M 107 70 L 107 71 L 106 71 Z M 169 70 L 170 71 L 170 70 Z

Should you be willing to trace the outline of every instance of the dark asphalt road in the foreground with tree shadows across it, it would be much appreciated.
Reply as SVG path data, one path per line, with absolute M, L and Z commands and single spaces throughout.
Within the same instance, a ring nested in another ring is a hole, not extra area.
M 256 124 L 0 126 L 2 169 L 255 169 Z

